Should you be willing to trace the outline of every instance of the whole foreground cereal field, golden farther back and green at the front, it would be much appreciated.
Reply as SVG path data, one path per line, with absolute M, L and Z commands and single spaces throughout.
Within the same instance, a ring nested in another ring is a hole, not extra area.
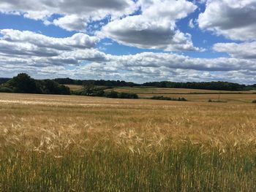
M 0 191 L 256 191 L 254 94 L 236 96 L 0 93 Z

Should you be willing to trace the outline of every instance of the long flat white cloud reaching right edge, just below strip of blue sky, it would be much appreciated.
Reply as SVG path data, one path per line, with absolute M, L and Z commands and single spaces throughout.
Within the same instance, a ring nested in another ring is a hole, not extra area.
M 129 67 L 165 66 L 170 69 L 193 69 L 197 71 L 225 72 L 241 69 L 256 69 L 256 62 L 240 58 L 191 58 L 174 53 L 138 53 L 135 55 L 113 56 L 118 64 Z

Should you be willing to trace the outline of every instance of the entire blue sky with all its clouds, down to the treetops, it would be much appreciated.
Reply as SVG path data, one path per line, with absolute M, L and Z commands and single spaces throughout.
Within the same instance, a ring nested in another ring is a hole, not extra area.
M 0 77 L 256 83 L 256 0 L 1 0 Z

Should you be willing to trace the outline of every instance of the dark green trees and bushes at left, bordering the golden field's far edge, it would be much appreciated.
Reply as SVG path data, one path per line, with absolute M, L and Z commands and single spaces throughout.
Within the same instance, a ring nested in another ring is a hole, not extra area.
M 116 91 L 104 91 L 97 87 L 95 81 L 83 81 L 79 91 L 70 91 L 69 87 L 59 84 L 55 80 L 34 80 L 28 74 L 21 73 L 12 79 L 3 80 L 0 84 L 0 92 L 4 93 L 39 93 L 80 96 L 105 96 L 119 99 L 138 99 L 135 93 L 118 93 Z M 124 82 L 122 82 L 124 83 Z

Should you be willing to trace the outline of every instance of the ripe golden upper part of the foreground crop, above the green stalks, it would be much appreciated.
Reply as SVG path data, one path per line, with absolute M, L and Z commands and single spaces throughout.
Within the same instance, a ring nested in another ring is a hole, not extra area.
M 223 151 L 256 144 L 254 104 L 2 93 L 0 107 L 1 149 L 150 153 L 187 142 Z

